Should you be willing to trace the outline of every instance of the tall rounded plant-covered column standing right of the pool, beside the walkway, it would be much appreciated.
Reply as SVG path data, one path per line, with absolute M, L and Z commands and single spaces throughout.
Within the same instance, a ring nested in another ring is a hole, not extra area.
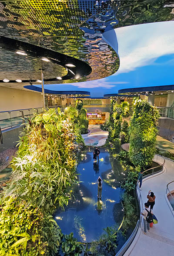
M 142 99 L 134 99 L 130 126 L 129 157 L 135 166 L 145 168 L 155 154 L 157 137 L 157 108 Z

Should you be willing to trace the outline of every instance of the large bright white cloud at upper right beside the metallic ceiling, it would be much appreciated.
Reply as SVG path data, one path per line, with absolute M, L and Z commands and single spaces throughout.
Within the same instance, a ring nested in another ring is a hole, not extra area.
M 162 55 L 174 53 L 174 21 L 115 29 L 120 68 L 115 75 L 152 64 Z

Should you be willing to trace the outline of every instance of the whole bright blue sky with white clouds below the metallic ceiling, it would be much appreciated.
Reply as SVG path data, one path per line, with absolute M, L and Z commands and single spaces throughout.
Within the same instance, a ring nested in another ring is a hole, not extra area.
M 119 89 L 174 84 L 174 21 L 115 29 L 120 68 L 107 78 L 89 82 L 45 85 L 52 90 L 86 90 L 92 97 Z M 114 39 L 115 40 L 115 39 Z M 40 85 L 38 85 L 40 87 Z

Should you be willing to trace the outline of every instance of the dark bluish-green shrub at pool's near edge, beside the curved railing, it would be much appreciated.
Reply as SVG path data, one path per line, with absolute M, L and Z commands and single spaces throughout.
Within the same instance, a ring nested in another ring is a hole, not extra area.
M 91 243 L 90 252 L 96 256 L 115 255 L 117 248 L 117 230 L 115 226 L 104 229 L 106 234 L 102 234 L 99 240 Z

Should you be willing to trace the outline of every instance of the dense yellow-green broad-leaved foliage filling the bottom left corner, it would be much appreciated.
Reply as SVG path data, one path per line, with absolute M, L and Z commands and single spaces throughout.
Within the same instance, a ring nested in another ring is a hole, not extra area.
M 0 255 L 43 255 L 47 242 L 42 237 L 44 217 L 26 201 L 8 197 L 0 208 Z

